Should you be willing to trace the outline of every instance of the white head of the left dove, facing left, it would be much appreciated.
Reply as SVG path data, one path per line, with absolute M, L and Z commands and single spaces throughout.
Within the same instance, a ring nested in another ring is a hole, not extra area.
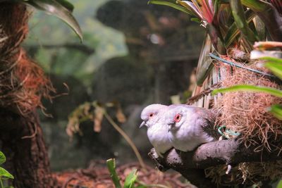
M 143 125 L 152 127 L 152 125 L 159 121 L 161 115 L 163 115 L 167 107 L 168 106 L 162 104 L 151 104 L 145 107 L 141 112 L 141 119 L 143 122 L 141 123 L 140 127 Z

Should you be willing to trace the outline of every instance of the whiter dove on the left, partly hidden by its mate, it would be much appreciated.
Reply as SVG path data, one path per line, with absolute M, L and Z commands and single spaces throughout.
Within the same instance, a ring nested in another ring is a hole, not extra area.
M 170 108 L 173 108 L 171 106 Z M 154 146 L 158 156 L 163 158 L 163 154 L 172 148 L 171 142 L 168 139 L 168 127 L 165 124 L 165 113 L 168 106 L 163 104 L 151 104 L 145 107 L 141 112 L 143 120 L 140 127 L 147 127 L 147 136 L 149 142 Z

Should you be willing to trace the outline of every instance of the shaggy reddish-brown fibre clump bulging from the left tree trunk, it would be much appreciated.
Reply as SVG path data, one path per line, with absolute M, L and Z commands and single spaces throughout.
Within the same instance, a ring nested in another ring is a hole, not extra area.
M 49 92 L 55 92 L 42 68 L 20 50 L 15 62 L 0 72 L 0 105 L 27 115 L 37 106 L 44 108 L 42 96 L 50 99 Z

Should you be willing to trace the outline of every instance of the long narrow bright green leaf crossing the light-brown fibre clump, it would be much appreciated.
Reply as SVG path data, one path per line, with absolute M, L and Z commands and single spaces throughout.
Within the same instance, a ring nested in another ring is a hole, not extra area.
M 280 89 L 274 89 L 271 87 L 261 87 L 255 85 L 235 85 L 232 87 L 214 89 L 212 94 L 226 93 L 226 92 L 262 92 L 266 94 L 272 94 L 274 96 L 282 97 L 282 91 Z

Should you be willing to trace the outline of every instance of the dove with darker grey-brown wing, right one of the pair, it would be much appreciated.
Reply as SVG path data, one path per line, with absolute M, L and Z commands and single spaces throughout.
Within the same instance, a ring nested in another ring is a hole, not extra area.
M 168 139 L 180 151 L 193 151 L 201 144 L 219 139 L 214 130 L 215 114 L 205 108 L 178 104 L 165 114 Z

